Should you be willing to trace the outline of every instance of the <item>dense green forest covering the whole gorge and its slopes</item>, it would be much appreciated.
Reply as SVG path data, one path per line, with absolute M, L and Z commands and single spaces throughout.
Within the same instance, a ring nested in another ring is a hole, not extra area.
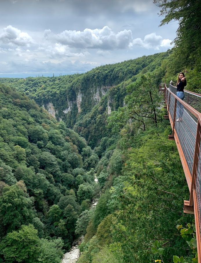
M 82 235 L 79 263 L 195 257 L 178 230 L 192 238 L 193 216 L 158 87 L 185 70 L 186 89 L 201 92 L 201 3 L 154 2 L 162 24 L 179 21 L 167 52 L 84 74 L 0 78 L 0 262 L 59 263 Z

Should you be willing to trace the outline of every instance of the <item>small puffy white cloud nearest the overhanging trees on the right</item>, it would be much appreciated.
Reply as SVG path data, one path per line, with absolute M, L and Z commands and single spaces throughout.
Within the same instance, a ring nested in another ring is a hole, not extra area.
M 171 47 L 170 45 L 171 40 L 169 39 L 162 39 L 162 36 L 156 35 L 156 33 L 148 34 L 144 37 L 144 40 L 141 38 L 134 39 L 130 44 L 129 47 L 132 48 L 135 45 L 138 45 L 142 48 L 150 49 L 153 48 L 155 50 L 159 50 L 160 47 Z

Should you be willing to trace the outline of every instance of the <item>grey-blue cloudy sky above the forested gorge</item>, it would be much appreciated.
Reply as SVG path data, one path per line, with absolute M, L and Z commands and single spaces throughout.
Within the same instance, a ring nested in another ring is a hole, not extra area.
M 171 48 L 152 0 L 0 0 L 0 77 L 59 76 Z

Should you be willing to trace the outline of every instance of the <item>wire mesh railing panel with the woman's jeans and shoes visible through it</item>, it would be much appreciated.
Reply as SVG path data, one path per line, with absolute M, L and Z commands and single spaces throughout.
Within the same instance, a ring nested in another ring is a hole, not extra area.
M 192 175 L 197 122 L 192 118 L 190 112 L 183 108 L 183 105 L 179 101 L 177 101 L 176 119 L 175 130 Z

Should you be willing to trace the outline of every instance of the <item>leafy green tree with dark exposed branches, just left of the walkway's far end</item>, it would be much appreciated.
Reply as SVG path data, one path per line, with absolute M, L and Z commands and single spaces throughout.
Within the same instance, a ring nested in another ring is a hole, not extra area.
M 134 120 L 137 129 L 145 131 L 146 123 L 151 122 L 157 126 L 160 102 L 162 97 L 158 94 L 155 76 L 152 74 L 140 75 L 136 82 L 127 86 L 125 106 L 118 108 L 108 117 L 108 127 L 118 131 L 129 120 Z

